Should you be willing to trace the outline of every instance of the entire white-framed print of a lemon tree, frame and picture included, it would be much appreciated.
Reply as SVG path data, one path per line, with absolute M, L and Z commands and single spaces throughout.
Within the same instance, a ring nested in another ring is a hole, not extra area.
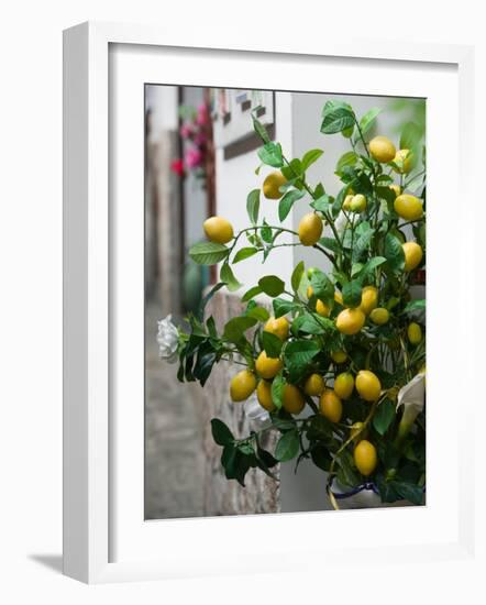
M 65 573 L 466 557 L 471 50 L 202 46 L 65 32 Z

